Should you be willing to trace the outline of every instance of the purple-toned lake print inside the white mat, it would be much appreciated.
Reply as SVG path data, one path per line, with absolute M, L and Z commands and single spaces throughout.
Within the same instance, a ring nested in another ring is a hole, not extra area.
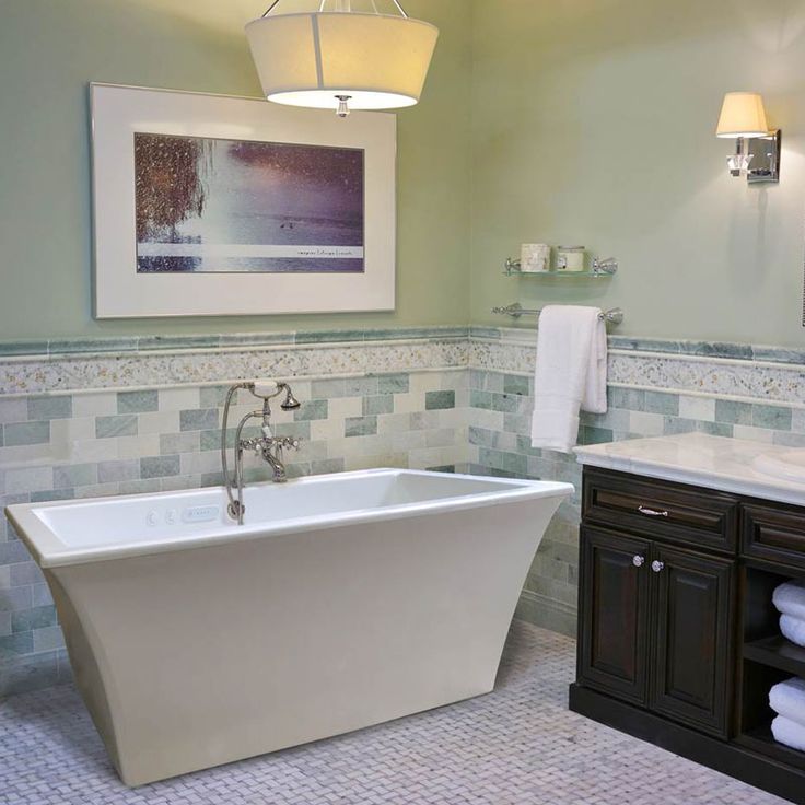
M 135 133 L 138 272 L 363 271 L 363 151 Z

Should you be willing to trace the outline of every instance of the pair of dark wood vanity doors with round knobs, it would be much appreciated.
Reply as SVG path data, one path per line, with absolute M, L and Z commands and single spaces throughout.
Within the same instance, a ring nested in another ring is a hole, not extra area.
M 726 735 L 733 565 L 585 526 L 580 680 Z

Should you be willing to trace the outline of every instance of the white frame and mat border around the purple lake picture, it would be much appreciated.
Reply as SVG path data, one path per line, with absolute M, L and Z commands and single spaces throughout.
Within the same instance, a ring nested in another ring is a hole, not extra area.
M 346 119 L 260 98 L 90 85 L 96 318 L 392 311 L 396 117 Z M 135 135 L 363 151 L 363 270 L 352 273 L 138 271 Z

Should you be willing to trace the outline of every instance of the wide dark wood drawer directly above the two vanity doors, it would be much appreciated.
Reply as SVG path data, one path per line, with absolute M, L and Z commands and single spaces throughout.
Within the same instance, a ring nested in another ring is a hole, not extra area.
M 584 471 L 585 522 L 728 553 L 737 550 L 738 499 L 610 470 Z

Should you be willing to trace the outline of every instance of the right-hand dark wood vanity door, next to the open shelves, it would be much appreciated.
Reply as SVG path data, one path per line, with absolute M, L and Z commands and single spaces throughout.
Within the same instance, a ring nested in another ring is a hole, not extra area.
M 654 546 L 654 662 L 650 707 L 727 735 L 734 562 Z

